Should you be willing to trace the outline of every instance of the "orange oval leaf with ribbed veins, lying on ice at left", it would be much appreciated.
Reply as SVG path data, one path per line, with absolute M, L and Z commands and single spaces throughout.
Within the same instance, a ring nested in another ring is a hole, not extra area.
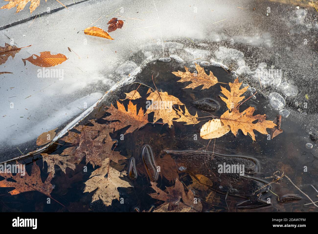
M 34 59 L 33 56 L 36 58 Z M 22 59 L 25 66 L 25 60 L 39 67 L 54 67 L 67 60 L 64 54 L 51 54 L 50 51 L 40 52 L 40 56 L 32 54 L 29 58 Z

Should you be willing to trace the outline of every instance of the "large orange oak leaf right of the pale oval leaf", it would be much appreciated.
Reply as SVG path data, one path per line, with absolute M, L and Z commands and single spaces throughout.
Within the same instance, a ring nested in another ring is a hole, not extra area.
M 265 120 L 265 114 L 253 116 L 254 111 L 254 107 L 248 107 L 243 112 L 239 112 L 237 108 L 234 108 L 232 112 L 227 110 L 223 115 L 221 115 L 220 119 L 224 125 L 230 126 L 234 135 L 236 135 L 238 130 L 241 129 L 244 135 L 249 133 L 252 139 L 255 140 L 253 130 L 259 131 L 262 134 L 268 134 L 266 128 L 273 128 L 276 124 L 274 124 L 273 121 Z M 255 120 L 258 121 L 253 124 Z

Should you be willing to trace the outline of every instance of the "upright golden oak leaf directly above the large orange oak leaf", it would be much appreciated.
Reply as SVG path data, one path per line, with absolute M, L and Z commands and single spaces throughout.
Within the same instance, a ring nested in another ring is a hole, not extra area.
M 239 78 L 236 78 L 233 83 L 229 83 L 230 90 L 225 89 L 221 86 L 221 93 L 223 93 L 225 97 L 220 98 L 226 103 L 226 106 L 229 110 L 232 110 L 233 108 L 236 108 L 238 106 L 238 103 L 244 99 L 245 96 L 241 96 L 246 92 L 248 89 L 248 86 L 239 89 L 241 87 L 242 83 L 239 83 Z

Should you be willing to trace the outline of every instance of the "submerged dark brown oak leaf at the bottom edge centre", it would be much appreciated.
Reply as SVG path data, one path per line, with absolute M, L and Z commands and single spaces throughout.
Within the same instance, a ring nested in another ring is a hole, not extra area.
M 199 200 L 194 199 L 193 192 L 191 190 L 188 191 L 187 194 L 184 192 L 183 184 L 176 179 L 176 183 L 174 188 L 167 187 L 166 191 L 162 191 L 160 188 L 157 187 L 157 183 L 151 182 L 151 188 L 153 188 L 156 192 L 149 194 L 152 198 L 157 200 L 164 201 L 162 205 L 157 207 L 155 210 L 160 210 L 162 207 L 163 210 L 172 211 L 172 210 L 180 210 L 184 209 L 185 207 L 190 207 L 188 211 L 202 211 L 202 204 Z M 182 202 L 180 201 L 182 199 Z M 168 204 L 168 207 L 166 207 Z M 166 209 L 167 208 L 167 209 Z

